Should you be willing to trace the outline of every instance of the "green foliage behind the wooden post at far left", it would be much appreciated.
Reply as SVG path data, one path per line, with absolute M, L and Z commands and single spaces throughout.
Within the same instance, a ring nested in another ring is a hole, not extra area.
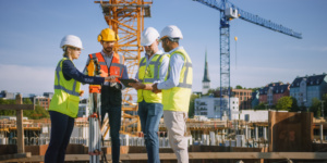
M 15 100 L 3 100 L 0 99 L 0 104 L 15 104 Z M 23 104 L 33 104 L 29 99 L 25 99 Z M 41 114 L 41 116 L 35 116 Z M 14 110 L 3 110 L 0 111 L 0 115 L 15 116 L 16 111 Z M 25 110 L 23 111 L 23 116 L 26 116 L 29 120 L 39 120 L 39 118 L 49 118 L 49 112 L 40 105 L 35 105 L 35 110 Z

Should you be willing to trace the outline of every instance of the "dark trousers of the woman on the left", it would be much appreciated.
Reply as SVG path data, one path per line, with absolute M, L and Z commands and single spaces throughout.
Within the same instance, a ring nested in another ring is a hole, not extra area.
M 49 113 L 51 118 L 51 135 L 45 155 L 45 163 L 63 163 L 75 118 L 55 111 L 49 111 Z

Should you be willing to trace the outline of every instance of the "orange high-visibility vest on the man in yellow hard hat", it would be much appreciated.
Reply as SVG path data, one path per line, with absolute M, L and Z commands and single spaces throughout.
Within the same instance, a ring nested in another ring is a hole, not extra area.
M 99 63 L 101 70 L 104 72 L 106 72 L 109 76 L 116 75 L 116 76 L 119 76 L 119 78 L 122 77 L 122 74 L 124 72 L 124 57 L 123 55 L 120 55 L 120 54 L 117 54 L 113 52 L 113 57 L 111 60 L 109 71 L 108 71 L 107 63 L 100 52 L 89 54 L 89 59 L 93 59 L 93 60 L 98 59 L 98 63 Z M 119 82 L 118 78 L 116 78 L 116 80 Z

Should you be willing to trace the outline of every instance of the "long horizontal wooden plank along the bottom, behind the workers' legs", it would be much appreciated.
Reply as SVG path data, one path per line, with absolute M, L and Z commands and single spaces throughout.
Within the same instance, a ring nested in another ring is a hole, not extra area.
M 111 154 L 106 154 L 111 160 Z M 160 153 L 160 160 L 177 160 L 174 153 Z M 326 160 L 326 152 L 191 152 L 192 159 L 296 159 Z M 44 155 L 32 155 L 25 159 L 12 159 L 5 162 L 43 162 Z M 88 161 L 88 154 L 66 154 L 64 161 Z M 147 153 L 120 154 L 120 160 L 147 160 Z

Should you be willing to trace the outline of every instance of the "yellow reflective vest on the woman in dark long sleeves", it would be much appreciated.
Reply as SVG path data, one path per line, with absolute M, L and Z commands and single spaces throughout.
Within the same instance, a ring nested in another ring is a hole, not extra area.
M 75 79 L 65 80 L 62 73 L 63 58 L 59 61 L 55 73 L 55 95 L 49 111 L 60 112 L 71 117 L 77 117 L 81 83 Z

